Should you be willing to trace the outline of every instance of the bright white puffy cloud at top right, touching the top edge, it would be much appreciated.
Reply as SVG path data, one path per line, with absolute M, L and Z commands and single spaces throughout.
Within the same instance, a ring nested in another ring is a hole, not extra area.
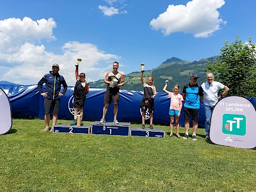
M 171 4 L 166 12 L 151 20 L 150 26 L 161 30 L 164 35 L 184 32 L 195 37 L 211 36 L 220 29 L 221 24 L 225 24 L 217 10 L 223 4 L 224 0 L 192 0 L 186 6 Z

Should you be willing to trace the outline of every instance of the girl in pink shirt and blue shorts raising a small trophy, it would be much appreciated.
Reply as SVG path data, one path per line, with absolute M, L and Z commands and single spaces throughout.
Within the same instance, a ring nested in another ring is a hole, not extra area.
M 168 94 L 168 96 L 170 97 L 170 99 L 171 99 L 170 109 L 169 109 L 170 137 L 173 136 L 172 131 L 173 131 L 174 116 L 175 116 L 175 124 L 176 124 L 176 129 L 177 129 L 176 136 L 177 136 L 177 138 L 180 138 L 180 135 L 179 135 L 179 128 L 180 128 L 179 118 L 180 118 L 180 111 L 182 109 L 183 97 L 182 97 L 182 95 L 179 94 L 179 90 L 180 90 L 179 84 L 175 84 L 173 86 L 173 92 L 168 92 L 166 90 L 167 85 L 168 85 L 168 81 L 165 82 L 165 86 L 163 88 L 163 91 L 166 92 Z

